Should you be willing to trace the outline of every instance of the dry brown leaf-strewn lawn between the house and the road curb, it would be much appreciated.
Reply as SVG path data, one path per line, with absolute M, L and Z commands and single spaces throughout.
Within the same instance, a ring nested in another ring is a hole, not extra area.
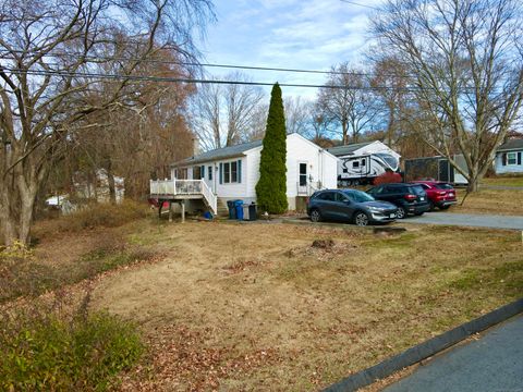
M 123 390 L 318 390 L 523 294 L 521 233 L 277 223 L 135 224 L 166 255 L 101 279 L 93 308 L 138 322 Z M 315 240 L 332 240 L 327 248 Z

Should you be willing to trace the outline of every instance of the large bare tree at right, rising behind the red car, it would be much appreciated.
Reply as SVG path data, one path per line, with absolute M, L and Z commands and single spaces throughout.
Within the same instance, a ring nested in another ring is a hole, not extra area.
M 522 12 L 518 0 L 389 0 L 374 22 L 384 50 L 412 75 L 431 131 L 425 142 L 466 177 L 469 191 L 520 114 Z

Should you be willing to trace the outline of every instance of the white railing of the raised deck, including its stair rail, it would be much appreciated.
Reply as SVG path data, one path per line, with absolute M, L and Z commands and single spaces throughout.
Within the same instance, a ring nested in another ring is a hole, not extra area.
M 202 195 L 212 212 L 218 213 L 218 197 L 204 180 L 150 180 L 150 195 L 156 197 Z

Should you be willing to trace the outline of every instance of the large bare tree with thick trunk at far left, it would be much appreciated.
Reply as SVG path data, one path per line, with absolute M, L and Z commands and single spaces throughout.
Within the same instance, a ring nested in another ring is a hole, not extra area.
M 209 16 L 208 0 L 0 1 L 3 243 L 28 241 L 38 189 L 71 130 L 125 102 L 133 82 L 122 76 L 157 50 L 192 53 L 191 35 Z M 108 84 L 111 94 L 90 99 Z

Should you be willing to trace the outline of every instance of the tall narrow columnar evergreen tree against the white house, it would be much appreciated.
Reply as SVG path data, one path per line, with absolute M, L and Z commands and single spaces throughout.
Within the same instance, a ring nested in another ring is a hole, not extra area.
M 287 200 L 287 132 L 281 88 L 277 84 L 270 94 L 269 114 L 259 162 L 256 196 L 262 211 L 282 213 Z

